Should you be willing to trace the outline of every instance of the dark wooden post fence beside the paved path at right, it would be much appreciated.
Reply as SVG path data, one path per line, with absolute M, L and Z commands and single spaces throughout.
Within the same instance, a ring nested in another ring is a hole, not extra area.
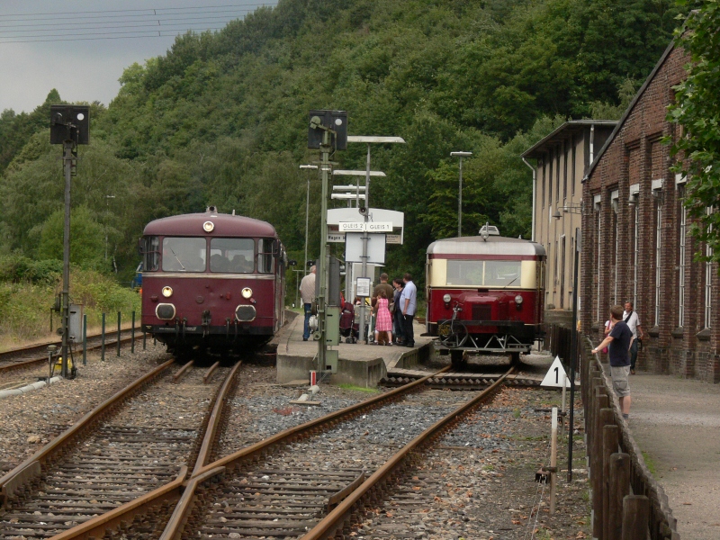
M 591 350 L 590 338 L 583 338 L 581 395 L 590 459 L 592 536 L 598 540 L 679 540 L 668 498 L 623 419 L 606 372 L 609 368 Z

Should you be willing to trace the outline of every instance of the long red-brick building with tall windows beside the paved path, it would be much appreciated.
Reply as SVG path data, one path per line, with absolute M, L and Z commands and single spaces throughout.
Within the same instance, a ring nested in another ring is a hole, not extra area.
M 665 120 L 688 57 L 672 45 L 599 149 L 582 186 L 581 323 L 597 344 L 609 307 L 635 302 L 638 367 L 720 382 L 720 283 L 689 234 L 685 179 L 671 173 L 680 127 Z

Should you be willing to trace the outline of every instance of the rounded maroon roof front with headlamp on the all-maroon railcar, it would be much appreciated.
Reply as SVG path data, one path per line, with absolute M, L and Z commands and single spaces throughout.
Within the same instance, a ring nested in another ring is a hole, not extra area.
M 202 223 L 205 221 L 212 221 L 215 225 L 211 233 L 206 233 L 202 229 Z M 145 226 L 143 234 L 160 236 L 277 238 L 275 227 L 266 221 L 210 211 L 181 214 L 179 216 L 150 221 Z

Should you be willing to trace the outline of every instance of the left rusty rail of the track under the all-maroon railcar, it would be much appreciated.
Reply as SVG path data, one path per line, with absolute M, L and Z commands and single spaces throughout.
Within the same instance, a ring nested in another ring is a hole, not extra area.
M 51 456 L 58 452 L 60 448 L 69 444 L 85 428 L 90 426 L 94 421 L 102 419 L 105 413 L 112 410 L 113 407 L 116 407 L 121 403 L 121 401 L 130 396 L 131 392 L 137 390 L 144 383 L 148 383 L 174 362 L 175 359 L 172 359 L 168 360 L 164 364 L 158 365 L 148 374 L 142 375 L 139 379 L 130 383 L 121 391 L 116 392 L 112 395 L 112 397 L 103 401 L 93 410 L 85 413 L 83 418 L 77 420 L 75 424 L 63 431 L 47 445 L 40 448 L 40 450 L 31 455 L 22 464 L 19 464 L 12 471 L 6 473 L 2 478 L 0 478 L 0 506 L 4 506 L 8 497 L 11 497 L 18 488 L 30 483 L 33 479 L 40 476 L 41 464 L 47 463 Z

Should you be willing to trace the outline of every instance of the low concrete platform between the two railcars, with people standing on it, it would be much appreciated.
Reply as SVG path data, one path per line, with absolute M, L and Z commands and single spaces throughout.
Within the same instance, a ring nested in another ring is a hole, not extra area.
M 317 370 L 316 341 L 302 341 L 303 317 L 291 321 L 276 338 L 277 382 L 307 382 L 310 371 Z M 431 338 L 420 336 L 425 327 L 415 323 L 415 347 L 349 344 L 341 341 L 338 347 L 338 373 L 331 376 L 332 383 L 357 386 L 375 386 L 393 367 L 409 368 L 430 355 Z

